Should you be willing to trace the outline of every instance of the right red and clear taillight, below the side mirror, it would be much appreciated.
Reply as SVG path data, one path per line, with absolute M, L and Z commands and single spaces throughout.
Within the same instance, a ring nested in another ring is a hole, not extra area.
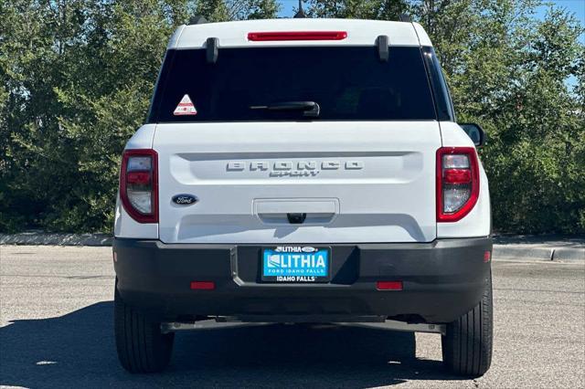
M 437 221 L 456 222 L 469 214 L 479 197 L 479 169 L 473 147 L 437 151 Z

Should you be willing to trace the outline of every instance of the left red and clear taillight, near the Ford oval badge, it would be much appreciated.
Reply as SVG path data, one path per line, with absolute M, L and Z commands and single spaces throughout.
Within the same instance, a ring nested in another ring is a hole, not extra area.
M 158 223 L 158 158 L 154 150 L 126 150 L 120 171 L 120 198 L 139 223 Z

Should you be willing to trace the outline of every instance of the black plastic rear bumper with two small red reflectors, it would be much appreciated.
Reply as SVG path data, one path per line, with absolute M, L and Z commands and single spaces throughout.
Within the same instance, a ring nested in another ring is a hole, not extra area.
M 118 238 L 114 268 L 122 299 L 161 321 L 389 317 L 443 323 L 481 300 L 491 271 L 484 261 L 485 251 L 492 251 L 489 237 L 329 246 L 332 278 L 325 284 L 262 283 L 261 246 L 252 245 L 166 245 Z M 402 281 L 403 289 L 378 290 L 377 281 L 384 280 Z M 213 281 L 215 289 L 190 289 L 192 281 Z

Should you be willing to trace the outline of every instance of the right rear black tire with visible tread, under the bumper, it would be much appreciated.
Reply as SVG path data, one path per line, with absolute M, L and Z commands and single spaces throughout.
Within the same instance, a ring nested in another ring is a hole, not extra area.
M 447 324 L 447 333 L 441 336 L 442 361 L 452 373 L 479 377 L 488 371 L 492 363 L 493 312 L 490 274 L 480 303 Z

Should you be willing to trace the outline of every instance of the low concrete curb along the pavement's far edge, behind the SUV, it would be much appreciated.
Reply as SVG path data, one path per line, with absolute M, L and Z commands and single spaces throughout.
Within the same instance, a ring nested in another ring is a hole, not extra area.
M 503 242 L 504 240 L 504 242 Z M 515 243 L 506 243 L 510 240 Z M 492 258 L 530 259 L 537 261 L 584 261 L 585 243 L 580 239 L 542 241 L 535 243 L 516 243 L 517 238 L 496 237 Z M 112 236 L 108 234 L 51 234 L 25 232 L 20 234 L 0 234 L 0 245 L 28 246 L 112 246 Z

